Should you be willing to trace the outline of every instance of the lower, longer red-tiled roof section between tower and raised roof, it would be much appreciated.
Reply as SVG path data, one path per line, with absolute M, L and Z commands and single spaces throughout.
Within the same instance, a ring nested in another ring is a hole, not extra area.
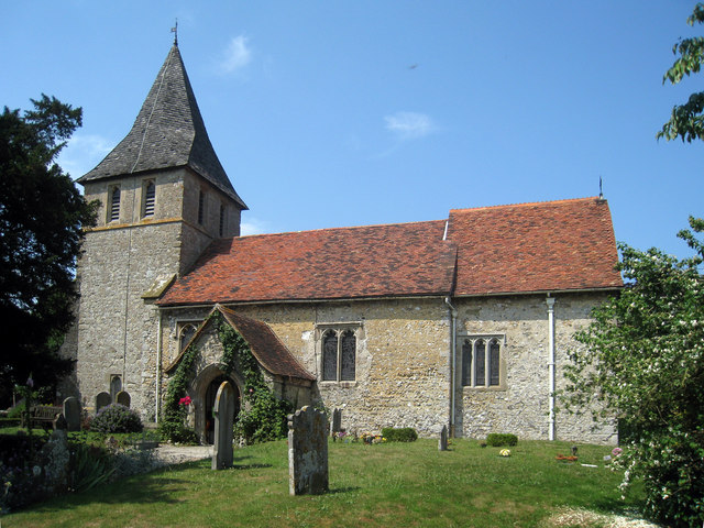
M 216 240 L 161 306 L 449 295 L 444 221 Z

